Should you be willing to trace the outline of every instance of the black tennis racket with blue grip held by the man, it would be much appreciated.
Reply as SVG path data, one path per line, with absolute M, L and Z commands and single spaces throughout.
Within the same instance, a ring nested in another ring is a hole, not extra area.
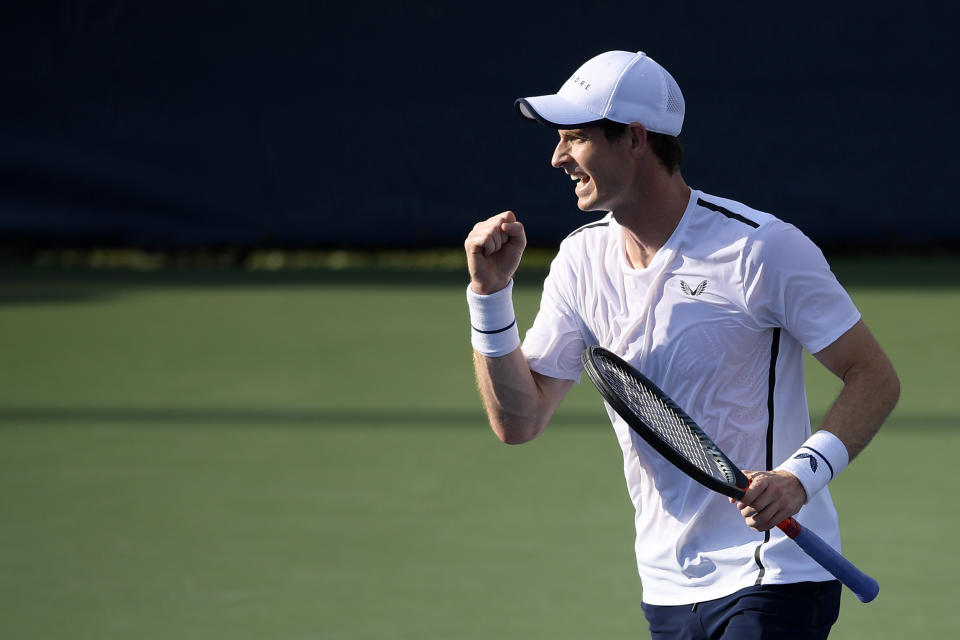
M 743 497 L 750 480 L 657 385 L 602 347 L 584 351 L 583 365 L 603 399 L 663 457 L 707 488 L 735 500 Z M 777 527 L 847 585 L 861 602 L 877 597 L 880 591 L 877 581 L 857 569 L 820 536 L 793 518 L 787 518 Z

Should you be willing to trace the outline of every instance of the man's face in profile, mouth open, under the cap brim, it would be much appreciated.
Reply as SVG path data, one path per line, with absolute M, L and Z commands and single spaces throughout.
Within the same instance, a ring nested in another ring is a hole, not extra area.
M 634 179 L 630 137 L 608 140 L 600 127 L 560 129 L 550 164 L 576 184 L 581 211 L 613 211 Z

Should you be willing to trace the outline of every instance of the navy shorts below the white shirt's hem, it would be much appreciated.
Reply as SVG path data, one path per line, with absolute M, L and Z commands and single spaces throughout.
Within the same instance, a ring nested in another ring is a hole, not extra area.
M 822 640 L 840 614 L 840 583 L 747 587 L 695 605 L 644 603 L 653 640 Z

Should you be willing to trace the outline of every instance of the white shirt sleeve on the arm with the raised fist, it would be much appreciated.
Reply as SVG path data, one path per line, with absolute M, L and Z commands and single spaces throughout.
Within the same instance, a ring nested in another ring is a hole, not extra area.
M 575 278 L 561 248 L 543 283 L 540 310 L 523 340 L 530 369 L 551 378 L 580 382 L 586 348 L 582 322 L 572 303 Z

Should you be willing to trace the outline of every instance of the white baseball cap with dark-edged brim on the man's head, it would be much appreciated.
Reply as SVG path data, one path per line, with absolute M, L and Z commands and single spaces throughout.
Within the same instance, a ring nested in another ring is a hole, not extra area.
M 607 119 L 639 122 L 648 131 L 680 135 L 683 94 L 677 81 L 642 51 L 607 51 L 587 60 L 560 91 L 520 98 L 524 118 L 554 129 L 575 129 Z

